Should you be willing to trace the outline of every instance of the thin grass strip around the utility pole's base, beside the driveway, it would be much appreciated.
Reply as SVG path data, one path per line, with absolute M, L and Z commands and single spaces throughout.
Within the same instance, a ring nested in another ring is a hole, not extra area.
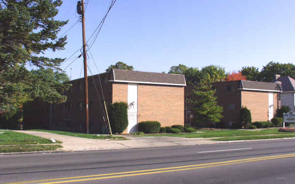
M 86 134 L 86 133 L 75 133 L 75 132 L 69 132 L 69 131 L 50 131 L 50 130 L 29 130 L 29 131 L 45 131 L 45 132 L 51 132 L 56 133 L 60 135 L 68 135 L 73 137 L 83 137 L 83 138 L 89 138 L 89 139 L 112 139 L 112 140 L 128 140 L 125 137 L 122 136 L 107 136 L 107 135 L 99 135 L 96 134 Z

